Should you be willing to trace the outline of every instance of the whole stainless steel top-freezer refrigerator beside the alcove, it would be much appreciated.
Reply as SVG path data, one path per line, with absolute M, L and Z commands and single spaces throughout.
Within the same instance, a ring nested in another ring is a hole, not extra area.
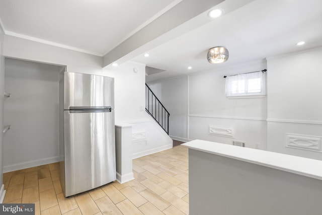
M 64 72 L 59 94 L 60 182 L 67 197 L 116 179 L 114 79 Z

